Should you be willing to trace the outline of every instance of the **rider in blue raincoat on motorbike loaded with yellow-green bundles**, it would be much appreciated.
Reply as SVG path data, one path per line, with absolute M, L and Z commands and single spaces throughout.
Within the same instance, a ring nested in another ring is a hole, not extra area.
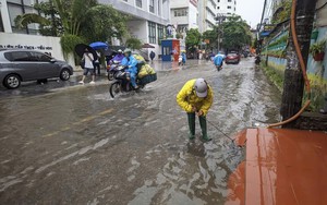
M 137 75 L 137 60 L 132 56 L 132 51 L 130 49 L 124 50 L 124 58 L 121 62 L 122 65 L 129 67 L 126 72 L 130 73 L 131 84 L 134 88 L 137 88 L 136 85 L 136 75 Z

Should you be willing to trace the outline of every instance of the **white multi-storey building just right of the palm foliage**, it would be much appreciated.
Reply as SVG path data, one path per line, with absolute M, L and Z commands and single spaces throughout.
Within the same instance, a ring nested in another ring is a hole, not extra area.
M 155 46 L 160 53 L 160 39 L 170 23 L 170 0 L 98 0 L 111 4 L 116 10 L 132 15 L 128 24 L 130 35 Z M 156 58 L 158 55 L 156 55 Z

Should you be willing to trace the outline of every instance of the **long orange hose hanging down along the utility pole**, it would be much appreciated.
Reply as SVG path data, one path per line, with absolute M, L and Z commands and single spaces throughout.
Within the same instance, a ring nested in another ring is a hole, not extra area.
M 294 43 L 296 56 L 298 56 L 299 61 L 300 61 L 300 67 L 301 67 L 301 70 L 302 70 L 302 74 L 303 74 L 303 79 L 304 79 L 305 88 L 306 88 L 306 93 L 307 93 L 308 99 L 306 100 L 306 102 L 304 104 L 304 106 L 301 108 L 301 110 L 298 113 L 295 113 L 293 117 L 291 117 L 291 118 L 289 118 L 289 119 L 287 119 L 287 120 L 284 120 L 282 122 L 269 124 L 267 128 L 283 125 L 283 124 L 287 124 L 287 123 L 295 120 L 305 110 L 305 108 L 308 107 L 308 105 L 311 102 L 310 101 L 310 98 L 311 98 L 310 81 L 308 81 L 307 75 L 306 75 L 306 69 L 305 69 L 303 56 L 301 53 L 300 46 L 299 46 L 299 40 L 298 40 L 298 37 L 296 37 L 296 29 L 295 29 L 295 8 L 296 8 L 296 0 L 293 0 L 292 1 L 292 10 L 291 10 L 291 32 L 292 32 L 292 38 L 293 38 L 293 43 Z

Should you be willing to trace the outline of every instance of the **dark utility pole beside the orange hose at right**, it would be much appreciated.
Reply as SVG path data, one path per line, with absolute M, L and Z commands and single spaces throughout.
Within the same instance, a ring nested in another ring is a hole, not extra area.
M 294 1 L 294 0 L 293 0 Z M 298 0 L 295 8 L 295 31 L 304 64 L 307 63 L 310 38 L 313 27 L 317 0 Z M 304 79 L 296 56 L 292 33 L 289 35 L 289 47 L 287 50 L 287 68 L 284 71 L 284 83 L 281 102 L 282 120 L 287 120 L 298 113 L 302 107 L 304 91 Z M 294 122 L 283 125 L 293 128 Z

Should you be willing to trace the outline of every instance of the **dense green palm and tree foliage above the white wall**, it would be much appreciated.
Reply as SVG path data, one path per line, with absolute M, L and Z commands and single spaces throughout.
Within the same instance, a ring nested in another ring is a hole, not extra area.
M 49 0 L 36 3 L 40 13 L 16 17 L 17 25 L 39 23 L 43 35 L 61 36 L 63 55 L 74 51 L 77 43 L 109 41 L 126 34 L 126 15 L 97 0 Z

